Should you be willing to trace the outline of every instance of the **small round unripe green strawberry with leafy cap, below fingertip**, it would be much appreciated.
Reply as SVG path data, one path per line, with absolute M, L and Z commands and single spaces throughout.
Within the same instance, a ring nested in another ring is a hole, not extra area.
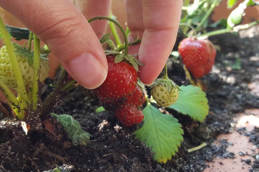
M 178 100 L 179 87 L 169 79 L 159 78 L 151 86 L 151 95 L 157 105 L 169 107 Z

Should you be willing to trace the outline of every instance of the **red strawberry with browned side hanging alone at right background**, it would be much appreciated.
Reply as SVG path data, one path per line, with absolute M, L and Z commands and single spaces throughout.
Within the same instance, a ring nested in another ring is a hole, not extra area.
M 185 38 L 180 42 L 178 52 L 195 78 L 207 75 L 216 57 L 216 49 L 209 40 Z

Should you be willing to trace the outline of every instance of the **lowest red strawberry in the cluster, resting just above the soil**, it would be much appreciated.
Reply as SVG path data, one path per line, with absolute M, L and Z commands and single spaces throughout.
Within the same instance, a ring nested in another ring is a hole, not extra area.
M 126 103 L 116 111 L 116 117 L 119 119 L 122 125 L 132 127 L 138 123 L 141 123 L 144 119 L 144 115 L 135 105 Z

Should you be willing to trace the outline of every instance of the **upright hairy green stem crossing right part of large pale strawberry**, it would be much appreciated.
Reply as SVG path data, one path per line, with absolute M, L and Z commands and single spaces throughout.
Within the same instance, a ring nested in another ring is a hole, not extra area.
M 37 109 L 38 103 L 38 91 L 39 91 L 39 80 L 40 80 L 40 68 L 41 68 L 41 54 L 40 54 L 40 40 L 33 34 L 34 42 L 34 57 L 33 57 L 33 85 L 32 85 L 32 108 Z

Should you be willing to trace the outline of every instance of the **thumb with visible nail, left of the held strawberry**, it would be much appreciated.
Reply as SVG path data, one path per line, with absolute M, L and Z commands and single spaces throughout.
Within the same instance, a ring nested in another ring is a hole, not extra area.
M 0 6 L 32 30 L 81 85 L 93 89 L 107 76 L 103 48 L 85 17 L 69 0 L 1 0 Z

